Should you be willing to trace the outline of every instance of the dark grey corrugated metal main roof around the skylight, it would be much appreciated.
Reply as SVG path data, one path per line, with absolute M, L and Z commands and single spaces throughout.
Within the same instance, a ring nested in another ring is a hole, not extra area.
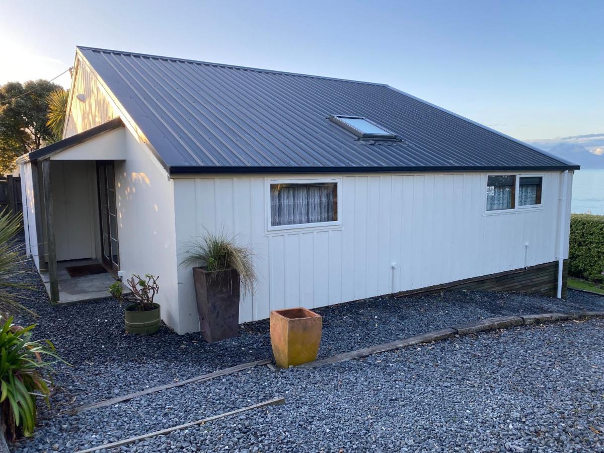
M 79 50 L 172 173 L 574 168 L 388 85 Z M 330 115 L 402 141 L 358 140 Z

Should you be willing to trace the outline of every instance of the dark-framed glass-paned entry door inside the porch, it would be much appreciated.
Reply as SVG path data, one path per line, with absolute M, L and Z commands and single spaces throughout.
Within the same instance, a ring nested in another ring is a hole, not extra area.
M 101 261 L 112 273 L 120 269 L 117 240 L 117 207 L 115 205 L 115 172 L 113 162 L 98 162 L 98 207 L 101 226 Z

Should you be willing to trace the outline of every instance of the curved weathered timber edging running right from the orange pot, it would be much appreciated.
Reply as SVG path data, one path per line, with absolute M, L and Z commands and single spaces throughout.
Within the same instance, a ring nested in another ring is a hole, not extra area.
M 355 351 L 337 354 L 335 356 L 308 362 L 295 368 L 316 368 L 323 365 L 345 362 L 352 359 L 362 359 L 372 354 L 393 351 L 406 346 L 413 346 L 421 343 L 431 343 L 448 339 L 453 336 L 470 335 L 471 333 L 484 332 L 486 330 L 507 329 L 515 326 L 531 326 L 533 324 L 553 323 L 556 321 L 580 320 L 587 318 L 604 318 L 604 311 L 601 312 L 570 312 L 570 313 L 538 313 L 536 315 L 517 315 L 517 316 L 497 316 L 496 318 L 486 318 L 484 320 L 472 321 L 466 324 L 456 324 L 445 329 L 431 330 L 430 332 L 420 333 L 388 343 L 378 344 Z

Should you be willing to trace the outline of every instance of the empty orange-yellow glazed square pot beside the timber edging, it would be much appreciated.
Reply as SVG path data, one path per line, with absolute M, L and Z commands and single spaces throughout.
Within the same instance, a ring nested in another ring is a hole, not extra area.
M 323 317 L 302 307 L 271 312 L 271 345 L 282 368 L 316 359 L 321 343 Z

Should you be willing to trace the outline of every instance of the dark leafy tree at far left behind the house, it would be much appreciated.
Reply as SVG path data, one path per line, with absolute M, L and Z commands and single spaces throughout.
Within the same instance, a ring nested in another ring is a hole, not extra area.
M 56 89 L 62 88 L 42 79 L 0 86 L 0 173 L 11 172 L 14 159 L 52 140 L 46 99 Z

